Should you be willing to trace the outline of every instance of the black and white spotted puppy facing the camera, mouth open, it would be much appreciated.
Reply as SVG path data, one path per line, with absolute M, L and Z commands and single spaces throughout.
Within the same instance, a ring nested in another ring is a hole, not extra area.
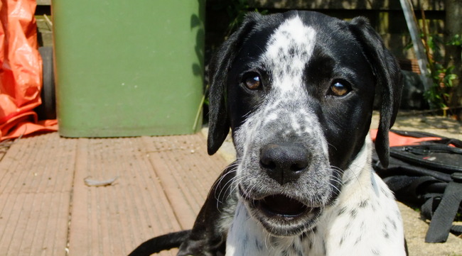
M 394 57 L 364 18 L 252 13 L 210 64 L 208 152 L 231 128 L 225 169 L 193 230 L 154 238 L 178 255 L 406 255 L 392 192 L 371 166 L 368 135 L 388 162 L 388 130 L 402 89 Z

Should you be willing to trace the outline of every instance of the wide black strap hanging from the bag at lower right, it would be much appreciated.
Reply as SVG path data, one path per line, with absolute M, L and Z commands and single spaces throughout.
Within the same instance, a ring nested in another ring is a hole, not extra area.
M 429 230 L 426 233 L 426 243 L 444 243 L 448 239 L 449 232 L 453 228 L 453 220 L 456 216 L 462 201 L 462 183 L 458 181 L 449 182 L 444 190 L 441 202 L 439 202 L 436 211 L 431 216 Z M 431 201 L 430 201 L 431 200 Z M 433 211 L 437 204 L 435 199 L 429 199 L 422 206 L 422 211 Z M 425 213 L 424 213 L 425 214 Z M 458 227 L 454 227 L 457 229 Z

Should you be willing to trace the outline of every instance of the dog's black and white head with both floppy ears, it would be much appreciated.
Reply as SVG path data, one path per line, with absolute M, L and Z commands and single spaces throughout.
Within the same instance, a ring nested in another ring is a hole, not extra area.
M 311 228 L 335 200 L 365 144 L 376 90 L 375 145 L 387 165 L 401 77 L 364 18 L 249 14 L 210 63 L 210 82 L 208 152 L 231 128 L 240 196 L 274 235 Z

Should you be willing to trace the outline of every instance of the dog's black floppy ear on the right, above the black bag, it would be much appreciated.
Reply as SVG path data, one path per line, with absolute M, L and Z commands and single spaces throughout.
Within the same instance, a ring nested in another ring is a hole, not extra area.
M 397 116 L 402 91 L 402 74 L 392 53 L 385 48 L 380 35 L 370 26 L 366 18 L 353 18 L 350 30 L 362 45 L 375 74 L 376 90 L 380 89 L 380 123 L 375 150 L 384 167 L 388 166 L 390 148 L 388 132 Z

